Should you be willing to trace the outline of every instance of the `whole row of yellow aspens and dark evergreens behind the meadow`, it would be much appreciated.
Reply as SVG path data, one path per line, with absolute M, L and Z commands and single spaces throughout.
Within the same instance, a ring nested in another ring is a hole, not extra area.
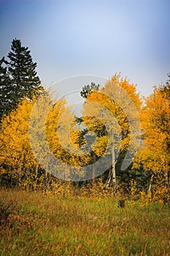
M 28 126 L 36 99 L 47 109 L 47 97 L 50 96 L 36 74 L 37 64 L 32 60 L 30 50 L 23 47 L 19 39 L 12 41 L 7 57 L 8 60 L 3 57 L 0 61 L 1 186 L 47 189 L 66 182 L 60 179 L 62 173 L 77 189 L 89 185 L 95 187 L 100 181 L 102 189 L 112 189 L 115 196 L 118 193 L 128 195 L 136 189 L 136 195 L 146 192 L 151 197 L 169 200 L 170 75 L 165 84 L 155 86 L 146 98 L 140 97 L 136 86 L 120 74 L 113 75 L 103 87 L 93 82 L 85 85 L 81 91 L 85 99 L 81 118 L 75 117 L 66 106 L 66 99 L 57 102 L 50 99 L 52 108 L 45 122 L 47 141 L 42 140 L 44 124 L 41 115 L 45 109 L 39 110 L 42 105 L 37 105 L 32 122 L 39 125 L 32 127 L 32 140 L 34 151 L 41 151 L 42 167 L 33 154 Z M 134 140 L 132 133 L 139 128 L 138 118 L 141 130 L 138 140 Z M 72 124 L 71 128 L 69 124 Z M 58 125 L 62 127 L 60 135 L 56 129 Z M 67 130 L 69 134 L 64 132 Z M 42 141 L 40 148 L 39 140 Z M 139 141 L 141 146 L 138 148 Z M 66 164 L 64 170 L 55 165 L 57 175 L 55 171 L 48 171 L 50 159 L 45 151 L 46 143 L 53 155 Z M 69 148 L 69 152 L 64 148 Z M 85 154 L 81 155 L 82 149 Z M 130 164 L 122 170 L 125 157 Z M 102 165 L 95 165 L 101 159 Z M 69 166 L 73 166 L 72 173 Z M 100 170 L 102 166 L 107 166 L 104 172 Z M 83 181 L 86 176 L 90 180 Z

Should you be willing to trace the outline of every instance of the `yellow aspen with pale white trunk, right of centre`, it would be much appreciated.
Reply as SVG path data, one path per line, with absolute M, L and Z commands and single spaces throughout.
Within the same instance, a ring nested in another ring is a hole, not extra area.
M 139 93 L 136 92 L 136 86 L 130 84 L 127 79 L 120 78 L 120 75 L 117 74 L 107 81 L 104 88 L 101 88 L 99 91 L 90 91 L 86 98 L 82 112 L 82 116 L 86 116 L 83 118 L 86 126 L 88 127 L 90 122 L 88 116 L 92 116 L 94 125 L 90 129 L 95 131 L 95 127 L 98 127 L 96 121 L 98 118 L 110 135 L 109 144 L 110 151 L 112 152 L 112 166 L 109 170 L 105 188 L 109 187 L 112 179 L 115 195 L 115 165 L 117 160 L 123 152 L 129 150 L 130 144 L 131 151 L 135 151 L 139 143 L 140 121 L 138 111 L 141 105 L 142 100 L 139 98 Z M 138 135 L 137 139 L 136 135 Z M 98 157 L 104 154 L 104 148 L 106 148 L 108 143 L 107 140 L 108 136 L 104 134 L 97 143 L 94 143 L 93 150 Z M 117 157 L 115 157 L 115 151 L 118 151 Z

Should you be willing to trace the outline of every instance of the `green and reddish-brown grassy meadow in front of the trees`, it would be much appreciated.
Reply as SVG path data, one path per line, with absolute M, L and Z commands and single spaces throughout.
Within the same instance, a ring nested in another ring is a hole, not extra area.
M 162 203 L 0 190 L 0 255 L 170 255 Z

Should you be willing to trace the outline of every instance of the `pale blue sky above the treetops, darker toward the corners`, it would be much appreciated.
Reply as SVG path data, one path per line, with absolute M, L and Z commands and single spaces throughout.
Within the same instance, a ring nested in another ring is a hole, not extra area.
M 21 39 L 46 86 L 122 72 L 147 96 L 170 72 L 169 0 L 0 0 L 0 25 L 0 58 Z

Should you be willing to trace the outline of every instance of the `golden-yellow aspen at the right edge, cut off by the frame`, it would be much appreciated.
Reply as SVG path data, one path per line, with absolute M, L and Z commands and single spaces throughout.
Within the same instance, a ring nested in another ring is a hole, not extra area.
M 170 165 L 170 104 L 163 86 L 154 88 L 147 97 L 141 113 L 143 128 L 143 146 L 136 154 L 134 167 L 143 166 L 151 173 L 150 186 L 153 178 L 157 178 L 159 186 L 169 187 Z

